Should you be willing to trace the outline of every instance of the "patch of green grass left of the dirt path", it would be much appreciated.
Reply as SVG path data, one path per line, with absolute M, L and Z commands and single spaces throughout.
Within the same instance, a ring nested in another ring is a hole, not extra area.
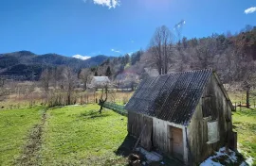
M 0 111 L 0 165 L 13 165 L 23 153 L 30 129 L 41 121 L 44 108 Z

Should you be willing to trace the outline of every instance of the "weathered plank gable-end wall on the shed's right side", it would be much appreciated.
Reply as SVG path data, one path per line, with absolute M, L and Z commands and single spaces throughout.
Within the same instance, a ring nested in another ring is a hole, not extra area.
M 209 97 L 211 106 L 209 103 Z M 208 98 L 207 100 L 205 100 Z M 204 112 L 205 108 L 210 108 Z M 207 107 L 206 107 L 207 106 Z M 204 117 L 203 115 L 209 115 Z M 192 152 L 192 156 L 189 154 L 190 162 L 199 163 L 208 158 L 215 150 L 218 150 L 221 146 L 224 146 L 228 142 L 228 133 L 232 130 L 231 122 L 231 108 L 229 103 L 221 91 L 215 77 L 212 75 L 209 80 L 209 84 L 206 87 L 202 98 L 195 112 L 192 116 L 191 124 L 188 126 L 188 138 Z M 207 143 L 208 140 L 208 122 L 212 120 L 218 121 L 218 130 L 220 140 L 214 143 Z

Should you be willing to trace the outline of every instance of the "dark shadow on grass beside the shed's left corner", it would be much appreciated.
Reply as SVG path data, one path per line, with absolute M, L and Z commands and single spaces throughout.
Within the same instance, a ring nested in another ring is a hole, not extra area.
M 118 156 L 128 157 L 133 152 L 133 148 L 135 147 L 136 141 L 137 139 L 127 135 L 125 139 L 122 141 L 119 148 L 114 152 Z

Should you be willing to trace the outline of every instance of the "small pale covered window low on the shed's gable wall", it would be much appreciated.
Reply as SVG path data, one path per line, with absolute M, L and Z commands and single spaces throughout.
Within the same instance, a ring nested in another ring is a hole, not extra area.
M 208 122 L 208 142 L 214 143 L 219 141 L 219 126 L 218 121 Z

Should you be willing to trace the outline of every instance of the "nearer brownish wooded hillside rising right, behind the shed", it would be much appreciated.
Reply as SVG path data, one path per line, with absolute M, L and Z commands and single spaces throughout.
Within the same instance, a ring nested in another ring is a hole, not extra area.
M 113 78 L 119 74 L 136 74 L 142 78 L 146 75 L 145 68 L 162 70 L 163 74 L 212 68 L 223 83 L 256 84 L 256 26 L 247 25 L 236 34 L 172 40 L 172 31 L 165 25 L 159 26 L 147 50 L 114 58 L 99 66 L 97 74 L 105 75 L 110 68 Z

